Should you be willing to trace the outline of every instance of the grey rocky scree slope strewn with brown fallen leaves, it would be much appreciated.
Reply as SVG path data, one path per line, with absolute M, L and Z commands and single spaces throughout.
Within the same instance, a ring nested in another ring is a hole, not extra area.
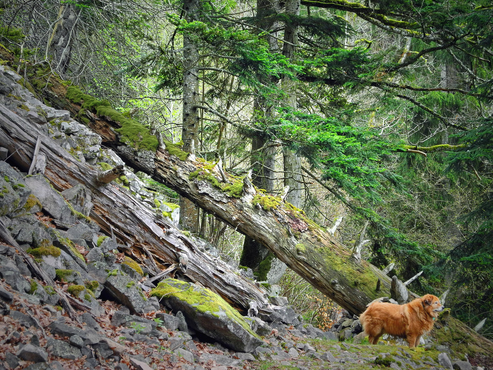
M 69 112 L 42 104 L 19 80 L 18 74 L 0 66 L 3 108 L 41 125 L 81 161 L 123 164 L 101 147 L 98 135 L 71 119 Z M 88 217 L 91 194 L 86 188 L 74 186 L 60 193 L 42 174 L 29 176 L 12 167 L 11 154 L 0 148 L 0 229 L 13 238 L 0 244 L 0 370 L 452 369 L 443 346 L 427 344 L 413 353 L 403 347 L 336 343 L 337 332 L 303 324 L 284 297 L 269 298 L 269 313 L 237 317 L 243 324 L 221 322 L 234 315 L 226 313 L 228 308 L 220 306 L 212 292 L 173 279 L 157 288 L 149 283 L 145 268 L 121 252 L 125 246 L 103 235 Z M 134 190 L 129 191 L 155 205 L 148 200 L 153 194 L 142 194 L 138 178 L 132 181 Z M 2 239 L 7 239 L 5 234 Z M 53 285 L 36 278 L 29 262 Z M 175 289 L 170 291 L 170 286 Z M 179 294 L 184 292 L 199 301 L 190 304 L 189 297 Z M 75 317 L 60 306 L 67 297 L 77 308 Z M 214 320 L 217 324 L 211 326 Z M 356 318 L 349 321 L 345 337 L 360 331 Z M 336 328 L 347 329 L 347 322 L 343 318 Z M 454 362 L 455 368 L 470 366 Z

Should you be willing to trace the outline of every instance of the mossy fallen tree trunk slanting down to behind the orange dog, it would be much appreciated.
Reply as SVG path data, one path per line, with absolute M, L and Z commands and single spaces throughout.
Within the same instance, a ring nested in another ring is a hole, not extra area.
M 83 100 L 74 102 L 64 98 L 60 89 L 56 96 L 48 98 L 74 115 L 84 103 Z M 88 125 L 102 136 L 104 144 L 115 150 L 128 166 L 149 174 L 259 241 L 317 290 L 348 311 L 361 313 L 375 298 L 390 296 L 388 276 L 364 260 L 358 263 L 352 259 L 351 250 L 289 203 L 258 192 L 251 185 L 245 185 L 241 194 L 231 196 L 231 187 L 223 182 L 217 168 L 210 169 L 210 163 L 187 156 L 170 143 L 156 152 L 138 151 L 119 141 L 115 130 L 121 125 L 109 114 L 98 116 L 86 109 L 85 117 L 89 119 Z M 242 181 L 229 174 L 227 180 L 234 186 Z

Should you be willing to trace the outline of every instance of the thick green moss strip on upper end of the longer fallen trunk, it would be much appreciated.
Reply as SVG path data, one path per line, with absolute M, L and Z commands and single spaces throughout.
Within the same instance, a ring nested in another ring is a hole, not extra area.
M 81 104 L 83 109 L 94 111 L 99 116 L 119 122 L 122 127 L 116 131 L 120 134 L 120 140 L 123 143 L 136 149 L 156 151 L 158 141 L 154 135 L 151 135 L 149 129 L 119 111 L 115 111 L 107 100 L 98 100 L 91 95 L 84 94 L 75 86 L 67 88 L 67 98 L 75 104 Z

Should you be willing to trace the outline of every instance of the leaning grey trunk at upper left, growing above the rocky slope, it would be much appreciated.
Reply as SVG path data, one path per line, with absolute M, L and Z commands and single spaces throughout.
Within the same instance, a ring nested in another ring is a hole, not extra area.
M 75 41 L 81 10 L 82 7 L 78 6 L 76 1 L 60 5 L 59 19 L 55 23 L 48 45 L 53 55 L 51 68 L 59 74 L 65 74 L 69 69 L 72 45 Z

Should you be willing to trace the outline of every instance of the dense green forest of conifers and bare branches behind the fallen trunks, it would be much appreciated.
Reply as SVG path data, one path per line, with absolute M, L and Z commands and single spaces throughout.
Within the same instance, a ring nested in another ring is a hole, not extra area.
M 488 318 L 482 334 L 493 337 L 489 1 L 3 0 L 0 10 L 1 46 L 35 88 L 55 72 L 119 119 L 229 173 L 251 171 L 361 258 L 394 263 L 402 280 L 424 271 L 411 290 L 450 289 L 453 314 L 470 326 Z M 282 270 L 146 181 L 180 204 L 183 228 L 259 280 Z M 289 270 L 279 284 L 306 319 L 330 325 L 327 298 Z

